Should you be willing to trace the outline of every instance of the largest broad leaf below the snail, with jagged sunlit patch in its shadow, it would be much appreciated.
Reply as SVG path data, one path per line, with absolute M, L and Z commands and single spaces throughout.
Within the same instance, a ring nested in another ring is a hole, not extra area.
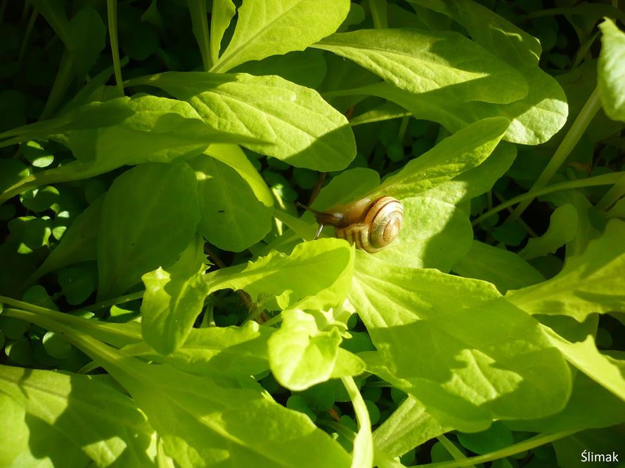
M 349 300 L 378 349 L 359 356 L 440 424 L 475 432 L 565 405 L 567 364 L 539 323 L 490 283 L 373 258 L 354 272 Z

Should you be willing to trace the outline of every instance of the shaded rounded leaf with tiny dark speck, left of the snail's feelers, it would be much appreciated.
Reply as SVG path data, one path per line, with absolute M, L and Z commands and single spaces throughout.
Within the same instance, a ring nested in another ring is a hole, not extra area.
M 266 236 L 273 209 L 257 199 L 247 180 L 206 154 L 189 165 L 198 178 L 198 232 L 207 241 L 222 250 L 241 252 Z

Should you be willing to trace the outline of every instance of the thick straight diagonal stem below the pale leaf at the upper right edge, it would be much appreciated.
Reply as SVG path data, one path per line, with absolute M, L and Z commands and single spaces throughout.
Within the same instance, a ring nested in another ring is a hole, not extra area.
M 600 107 L 601 102 L 599 99 L 599 91 L 598 88 L 595 88 L 588 100 L 586 101 L 586 104 L 584 104 L 584 107 L 582 107 L 579 114 L 577 114 L 577 117 L 573 122 L 571 128 L 569 128 L 569 131 L 565 135 L 565 138 L 562 138 L 560 146 L 558 146 L 558 149 L 555 150 L 555 153 L 553 154 L 553 157 L 547 164 L 546 168 L 543 169 L 543 172 L 541 173 L 541 175 L 539 175 L 539 178 L 537 178 L 536 182 L 534 182 L 534 185 L 531 186 L 530 193 L 536 192 L 537 190 L 544 187 L 546 183 L 549 182 L 549 180 L 553 177 L 555 172 L 558 171 L 558 168 L 560 168 L 560 166 L 562 166 L 562 163 L 566 161 L 567 156 L 571 154 L 575 145 L 577 145 L 577 142 L 579 142 L 581 136 L 584 135 L 584 131 L 586 131 L 586 128 L 588 128 L 588 124 L 591 123 L 593 117 L 600 109 Z M 534 196 L 530 196 L 529 198 L 524 199 L 524 201 L 520 203 L 517 208 L 515 208 L 513 213 L 510 215 L 510 218 L 508 219 L 510 221 L 514 221 L 519 218 L 525 208 L 527 208 L 527 206 L 529 206 L 529 203 L 531 203 L 531 201 L 533 200 Z

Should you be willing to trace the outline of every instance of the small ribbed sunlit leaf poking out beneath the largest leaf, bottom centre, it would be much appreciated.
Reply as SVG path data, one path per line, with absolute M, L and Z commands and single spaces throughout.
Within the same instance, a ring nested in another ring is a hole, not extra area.
M 441 426 L 413 396 L 402 401 L 385 422 L 373 432 L 375 448 L 399 457 L 411 448 L 453 429 Z

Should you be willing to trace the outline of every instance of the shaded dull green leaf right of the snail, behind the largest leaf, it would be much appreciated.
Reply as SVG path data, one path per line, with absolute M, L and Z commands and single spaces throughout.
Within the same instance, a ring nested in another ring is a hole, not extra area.
M 453 271 L 465 278 L 489 281 L 500 293 L 545 281 L 537 269 L 516 253 L 479 241 L 473 241 L 469 252 L 453 266 Z

